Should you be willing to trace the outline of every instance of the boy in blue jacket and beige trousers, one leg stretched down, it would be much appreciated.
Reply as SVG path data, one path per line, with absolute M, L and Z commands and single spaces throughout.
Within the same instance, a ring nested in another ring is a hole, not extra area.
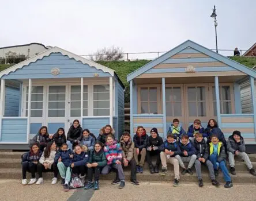
M 160 146 L 160 157 L 162 162 L 161 175 L 165 175 L 167 172 L 167 162 L 174 165 L 174 186 L 179 185 L 179 161 L 175 159 L 175 156 L 181 154 L 179 145 L 174 139 L 174 134 L 167 135 L 167 141 Z

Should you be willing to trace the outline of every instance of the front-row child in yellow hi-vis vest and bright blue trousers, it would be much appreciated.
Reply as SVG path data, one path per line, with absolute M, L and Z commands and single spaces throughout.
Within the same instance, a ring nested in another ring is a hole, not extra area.
M 212 135 L 212 142 L 210 142 L 210 161 L 213 164 L 214 173 L 215 176 L 219 175 L 219 168 L 221 169 L 223 173 L 224 180 L 226 181 L 224 187 L 225 188 L 231 188 L 233 187 L 231 177 L 229 176 L 228 169 L 225 164 L 225 147 L 223 145 L 223 142 L 219 141 L 219 138 L 217 135 Z

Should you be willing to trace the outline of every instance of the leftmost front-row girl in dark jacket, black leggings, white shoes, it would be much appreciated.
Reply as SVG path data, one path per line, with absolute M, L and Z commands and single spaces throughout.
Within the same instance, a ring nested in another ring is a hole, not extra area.
M 36 182 L 36 170 L 41 156 L 42 152 L 37 142 L 32 144 L 29 152 L 22 154 L 22 185 L 32 185 Z M 27 183 L 26 179 L 27 171 L 31 172 L 31 180 L 29 183 Z

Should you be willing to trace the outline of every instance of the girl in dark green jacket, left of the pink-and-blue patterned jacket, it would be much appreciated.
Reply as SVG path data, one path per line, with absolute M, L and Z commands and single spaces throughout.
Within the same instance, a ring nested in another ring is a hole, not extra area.
M 94 190 L 99 190 L 99 179 L 100 171 L 103 167 L 107 165 L 107 159 L 105 153 L 103 152 L 103 144 L 97 141 L 94 149 L 90 151 L 89 162 L 87 163 L 87 177 L 88 183 L 85 185 L 84 189 L 94 188 Z M 94 183 L 92 181 L 94 172 Z

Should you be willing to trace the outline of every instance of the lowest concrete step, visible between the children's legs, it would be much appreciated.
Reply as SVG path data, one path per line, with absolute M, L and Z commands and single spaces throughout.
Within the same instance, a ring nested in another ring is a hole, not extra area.
M 210 178 L 208 173 L 202 173 L 204 182 L 210 183 Z M 43 178 L 44 179 L 52 179 L 53 173 L 52 172 L 44 172 Z M 256 176 L 250 175 L 250 173 L 237 173 L 237 175 L 231 175 L 232 181 L 234 182 L 234 185 L 236 183 L 256 183 Z M 0 178 L 1 179 L 21 179 L 21 169 L 20 168 L 0 168 Z M 31 178 L 31 174 L 27 173 L 27 179 Z M 125 171 L 125 178 L 126 181 L 130 180 L 130 171 Z M 100 179 L 102 180 L 114 180 L 115 179 L 115 173 L 110 173 L 108 175 L 100 175 Z M 168 171 L 165 176 L 161 176 L 159 174 L 150 174 L 149 171 L 144 171 L 144 173 L 137 173 L 137 180 L 138 181 L 172 181 L 174 179 L 174 173 L 172 171 Z M 225 183 L 223 180 L 222 173 L 220 172 L 219 176 L 217 177 L 217 180 L 221 183 Z M 198 182 L 197 176 L 194 171 L 194 175 L 180 175 L 180 182 Z

